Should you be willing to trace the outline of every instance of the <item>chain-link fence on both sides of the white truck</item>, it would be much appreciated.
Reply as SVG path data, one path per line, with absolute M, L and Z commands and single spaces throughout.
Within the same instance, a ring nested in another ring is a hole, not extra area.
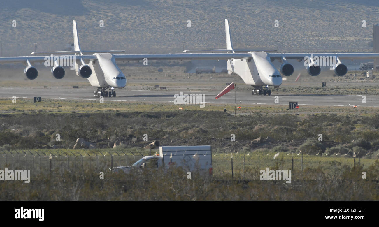
M 31 175 L 55 170 L 77 171 L 79 169 L 100 169 L 109 171 L 112 167 L 130 166 L 144 154 L 140 152 L 96 152 L 90 155 L 85 150 L 36 152 L 30 150 L 0 150 L 0 169 L 30 169 Z M 309 178 L 312 171 L 321 169 L 324 174 L 336 169 L 349 167 L 356 172 L 379 165 L 377 158 L 353 158 L 296 154 L 291 152 L 269 153 L 213 153 L 213 177 L 224 179 L 260 179 L 261 171 L 291 170 L 292 179 Z M 275 157 L 275 158 L 274 158 Z M 268 169 L 267 169 L 268 168 Z

